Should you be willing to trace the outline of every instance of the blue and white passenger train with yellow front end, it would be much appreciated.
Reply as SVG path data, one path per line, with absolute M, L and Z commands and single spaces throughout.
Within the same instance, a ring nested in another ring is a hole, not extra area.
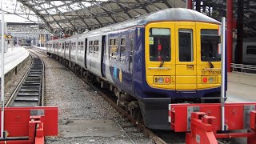
M 148 128 L 170 130 L 168 104 L 220 98 L 220 25 L 194 10 L 159 10 L 49 41 L 47 54 L 113 90 Z

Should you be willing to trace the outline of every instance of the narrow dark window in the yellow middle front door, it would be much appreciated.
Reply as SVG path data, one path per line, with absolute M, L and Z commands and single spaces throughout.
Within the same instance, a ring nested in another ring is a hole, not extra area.
M 192 30 L 178 30 L 178 57 L 179 62 L 193 62 L 193 35 Z

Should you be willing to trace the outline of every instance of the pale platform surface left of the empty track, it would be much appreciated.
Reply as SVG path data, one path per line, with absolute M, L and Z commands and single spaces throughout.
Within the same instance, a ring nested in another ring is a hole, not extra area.
M 29 51 L 24 49 L 23 47 L 15 47 L 14 50 L 8 50 L 5 53 L 5 69 L 4 73 L 7 74 L 10 70 L 13 70 L 15 66 L 18 66 L 21 62 L 23 62 L 30 55 Z M 0 58 L 0 66 L 2 63 L 2 59 Z M 0 69 L 1 73 L 1 69 Z M 1 75 L 0 75 L 1 78 Z

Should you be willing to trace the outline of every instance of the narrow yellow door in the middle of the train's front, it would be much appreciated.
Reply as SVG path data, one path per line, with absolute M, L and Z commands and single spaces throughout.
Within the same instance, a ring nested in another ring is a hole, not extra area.
M 176 90 L 197 89 L 196 31 L 194 22 L 175 24 Z

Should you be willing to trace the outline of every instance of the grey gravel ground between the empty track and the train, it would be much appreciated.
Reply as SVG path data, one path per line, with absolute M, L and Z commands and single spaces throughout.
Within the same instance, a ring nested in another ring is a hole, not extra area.
M 46 66 L 45 104 L 58 106 L 58 137 L 46 138 L 47 143 L 153 143 L 65 66 L 41 58 Z

